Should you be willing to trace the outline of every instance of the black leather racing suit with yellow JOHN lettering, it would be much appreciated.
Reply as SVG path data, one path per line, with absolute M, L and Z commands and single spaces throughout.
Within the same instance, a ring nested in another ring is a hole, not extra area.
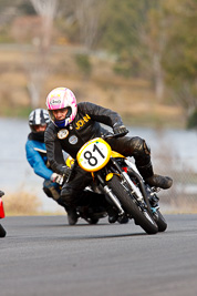
M 75 159 L 77 151 L 89 140 L 110 133 L 110 131 L 101 126 L 100 123 L 111 127 L 113 127 L 115 123 L 123 125 L 122 119 L 116 112 L 90 102 L 81 102 L 77 104 L 76 116 L 66 127 L 60 129 L 53 123 L 49 124 L 44 141 L 48 160 L 54 172 L 59 174 L 63 174 L 64 172 L 63 166 L 65 166 L 65 164 L 62 150 Z M 143 167 L 151 161 L 149 149 L 145 141 L 138 136 L 123 136 L 115 140 L 107 140 L 107 142 L 113 151 L 120 152 L 125 156 L 134 156 L 137 167 Z M 91 174 L 77 166 L 73 180 L 65 183 L 62 187 L 61 197 L 65 204 L 74 205 L 75 201 L 81 198 L 80 196 L 83 195 L 83 190 L 91 181 Z

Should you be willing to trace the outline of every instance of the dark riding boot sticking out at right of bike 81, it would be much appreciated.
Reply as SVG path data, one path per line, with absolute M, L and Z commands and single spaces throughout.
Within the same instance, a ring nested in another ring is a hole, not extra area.
M 169 176 L 154 174 L 152 162 L 144 166 L 137 166 L 137 170 L 144 181 L 152 187 L 168 190 L 173 185 L 173 180 Z

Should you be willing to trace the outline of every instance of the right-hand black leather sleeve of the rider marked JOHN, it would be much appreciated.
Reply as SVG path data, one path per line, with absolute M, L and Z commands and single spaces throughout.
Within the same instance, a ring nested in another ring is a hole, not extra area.
M 90 115 L 92 120 L 104 123 L 111 127 L 113 127 L 114 124 L 123 124 L 120 114 L 110 109 L 90 102 L 79 103 L 79 108 L 83 111 L 83 113 Z

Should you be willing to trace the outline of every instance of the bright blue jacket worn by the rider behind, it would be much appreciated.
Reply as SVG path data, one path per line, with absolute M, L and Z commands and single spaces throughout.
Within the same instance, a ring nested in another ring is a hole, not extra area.
M 33 167 L 34 173 L 45 180 L 50 180 L 52 170 L 46 166 L 45 144 L 40 141 L 28 140 L 25 143 L 27 160 Z

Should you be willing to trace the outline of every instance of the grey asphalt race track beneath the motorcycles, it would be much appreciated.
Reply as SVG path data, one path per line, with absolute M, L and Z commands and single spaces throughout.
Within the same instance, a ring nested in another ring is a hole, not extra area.
M 196 296 L 197 215 L 165 215 L 165 233 L 133 222 L 6 217 L 0 296 Z

